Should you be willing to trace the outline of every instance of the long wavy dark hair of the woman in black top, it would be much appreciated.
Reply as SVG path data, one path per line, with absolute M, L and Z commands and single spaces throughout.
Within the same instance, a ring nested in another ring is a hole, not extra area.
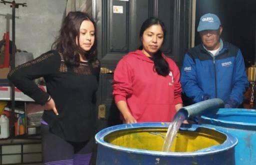
M 84 51 L 80 45 L 76 44 L 75 39 L 79 41 L 80 25 L 83 20 L 89 20 L 93 23 L 94 31 L 94 43 L 89 51 Z M 85 12 L 71 11 L 67 14 L 62 22 L 59 30 L 59 36 L 52 43 L 51 49 L 56 49 L 63 54 L 65 63 L 69 66 L 79 65 L 79 53 L 84 54 L 88 62 L 92 62 L 96 59 L 96 23 Z

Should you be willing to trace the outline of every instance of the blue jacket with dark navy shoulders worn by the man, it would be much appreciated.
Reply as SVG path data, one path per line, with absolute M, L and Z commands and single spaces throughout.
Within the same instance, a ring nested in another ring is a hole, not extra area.
M 241 51 L 231 43 L 220 42 L 215 56 L 202 43 L 184 56 L 180 77 L 182 91 L 193 102 L 202 101 L 205 94 L 224 102 L 235 100 L 241 104 L 243 101 L 248 79 Z

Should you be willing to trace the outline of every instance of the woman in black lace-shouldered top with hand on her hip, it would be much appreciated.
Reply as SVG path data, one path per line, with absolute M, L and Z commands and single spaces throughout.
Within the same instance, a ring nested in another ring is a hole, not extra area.
M 95 131 L 95 22 L 88 14 L 69 12 L 52 50 L 17 66 L 8 79 L 44 105 L 41 134 L 45 164 L 88 164 Z M 44 77 L 47 92 L 33 81 Z

